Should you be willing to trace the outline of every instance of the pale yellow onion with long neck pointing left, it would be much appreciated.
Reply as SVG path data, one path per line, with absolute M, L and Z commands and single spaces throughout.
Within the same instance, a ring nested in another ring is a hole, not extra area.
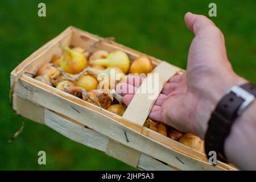
M 105 59 L 90 60 L 90 65 L 100 65 L 102 67 L 118 67 L 123 73 L 127 73 L 130 67 L 128 55 L 123 51 L 110 52 Z

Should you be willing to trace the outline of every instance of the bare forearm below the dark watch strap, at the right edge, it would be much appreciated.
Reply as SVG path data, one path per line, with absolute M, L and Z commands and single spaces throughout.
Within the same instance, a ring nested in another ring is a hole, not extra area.
M 234 122 L 224 150 L 230 162 L 241 169 L 256 169 L 256 102 Z

